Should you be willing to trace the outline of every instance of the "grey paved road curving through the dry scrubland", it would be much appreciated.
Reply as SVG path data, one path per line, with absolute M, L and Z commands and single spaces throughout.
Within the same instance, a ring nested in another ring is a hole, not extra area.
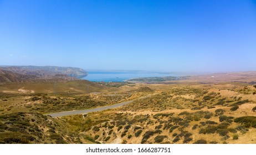
M 145 99 L 146 97 L 149 97 L 149 96 L 140 97 L 139 99 Z M 136 99 L 136 100 L 138 100 L 138 99 Z M 107 110 L 110 108 L 120 107 L 123 105 L 130 104 L 133 101 L 135 101 L 135 100 L 121 102 L 120 104 L 115 104 L 115 105 L 111 105 L 111 106 L 104 106 L 104 107 L 91 108 L 91 109 L 85 109 L 85 110 L 73 110 L 73 111 L 47 113 L 45 115 L 50 115 L 52 117 L 62 117 L 62 116 L 69 116 L 69 115 L 85 114 L 85 113 L 89 113 L 89 112 L 103 111 L 103 110 Z

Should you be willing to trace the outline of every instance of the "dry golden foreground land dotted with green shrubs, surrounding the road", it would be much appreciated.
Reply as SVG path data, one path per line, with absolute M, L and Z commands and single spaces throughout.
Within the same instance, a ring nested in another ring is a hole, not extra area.
M 96 84 L 109 85 L 114 93 L 0 92 L 0 143 L 252 143 L 251 138 L 246 138 L 256 128 L 255 89 L 246 86 L 248 83 L 227 82 L 214 87 L 199 83 Z M 148 97 L 139 99 L 142 96 Z M 40 114 L 128 100 L 135 101 L 85 117 L 52 118 Z

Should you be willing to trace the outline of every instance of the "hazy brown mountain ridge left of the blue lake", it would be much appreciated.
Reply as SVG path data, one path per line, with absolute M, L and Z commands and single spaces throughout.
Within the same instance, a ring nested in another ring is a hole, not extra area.
M 58 79 L 58 81 L 75 80 L 75 77 L 87 76 L 80 68 L 58 66 L 0 66 L 0 82 L 24 82 L 31 80 Z M 51 80 L 51 81 L 52 81 Z

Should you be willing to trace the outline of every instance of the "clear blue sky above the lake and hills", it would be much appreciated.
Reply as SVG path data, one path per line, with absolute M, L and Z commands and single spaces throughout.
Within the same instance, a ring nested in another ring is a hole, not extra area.
M 256 70 L 256 2 L 0 0 L 0 65 Z

